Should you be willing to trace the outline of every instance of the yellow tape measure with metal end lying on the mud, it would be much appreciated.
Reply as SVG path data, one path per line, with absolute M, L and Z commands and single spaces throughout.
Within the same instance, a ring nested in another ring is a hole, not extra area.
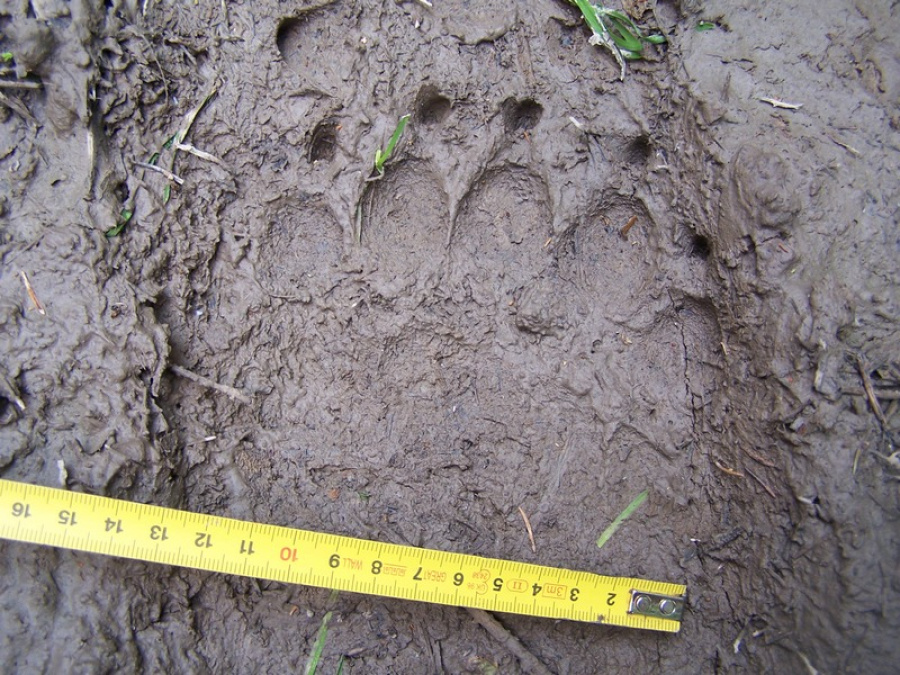
M 385 544 L 0 479 L 0 537 L 442 605 L 678 632 L 686 588 Z

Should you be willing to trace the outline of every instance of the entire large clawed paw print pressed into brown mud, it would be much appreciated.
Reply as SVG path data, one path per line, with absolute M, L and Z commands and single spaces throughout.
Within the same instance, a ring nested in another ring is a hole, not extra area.
M 320 91 L 334 95 L 332 88 L 351 77 L 336 70 L 352 66 L 318 57 L 351 46 L 343 26 L 359 26 L 352 14 L 329 5 L 279 27 L 278 49 L 296 73 L 281 75 L 302 80 L 311 99 L 327 98 Z M 483 27 L 503 31 L 505 23 L 487 18 Z M 578 37 L 584 42 L 581 32 Z M 494 58 L 483 44 L 466 53 L 476 52 L 472 58 Z M 486 65 L 485 82 L 491 72 Z M 584 222 L 554 231 L 550 194 L 556 192 L 539 173 L 541 154 L 525 155 L 519 147 L 527 147 L 523 136 L 551 123 L 552 97 L 538 102 L 531 90 L 506 90 L 473 105 L 471 92 L 452 78 L 416 82 L 405 91 L 403 109 L 412 102 L 417 134 L 413 150 L 437 135 L 467 137 L 472 129 L 485 147 L 505 149 L 476 158 L 466 149 L 471 146 L 454 148 L 461 162 L 475 160 L 476 177 L 461 198 L 448 187 L 461 176 L 450 173 L 445 183 L 441 160 L 428 148 L 394 160 L 381 180 L 365 185 L 353 214 L 362 274 L 342 287 L 358 295 L 346 305 L 338 300 L 342 291 L 318 306 L 275 303 L 277 320 L 265 319 L 251 340 L 254 362 L 264 364 L 258 380 L 269 387 L 265 426 L 273 437 L 291 440 L 262 442 L 248 454 L 291 466 L 303 458 L 319 467 L 322 487 L 366 476 L 380 495 L 379 508 L 393 518 L 387 521 L 392 532 L 414 539 L 417 528 L 427 531 L 428 539 L 416 543 L 434 543 L 441 528 L 429 521 L 464 513 L 474 529 L 457 535 L 459 545 L 497 554 L 498 542 L 514 549 L 521 534 L 517 520 L 503 523 L 509 504 L 540 501 L 553 518 L 579 500 L 594 500 L 604 512 L 598 495 L 627 491 L 628 472 L 641 475 L 645 464 L 673 456 L 691 428 L 685 346 L 674 315 L 657 311 L 668 297 L 655 304 L 647 297 L 658 273 L 657 235 L 640 201 L 608 195 Z M 305 125 L 305 159 L 327 163 L 323 171 L 345 168 L 353 133 L 348 126 L 339 139 L 337 124 L 361 104 L 304 105 L 298 119 Z M 496 116 L 488 125 L 467 119 L 476 108 Z M 651 148 L 638 131 L 615 138 L 626 164 L 640 169 Z M 516 148 L 508 151 L 512 139 Z M 459 201 L 451 202 L 450 193 Z M 319 297 L 329 278 L 345 278 L 348 270 L 336 269 L 341 229 L 328 208 L 295 199 L 272 211 L 250 252 L 270 294 Z M 619 230 L 633 215 L 638 224 L 623 241 Z M 394 302 L 407 296 L 412 302 Z M 640 325 L 627 328 L 632 345 L 615 332 L 628 323 Z M 557 455 L 572 436 L 567 464 Z M 322 438 L 333 450 L 317 449 Z M 621 470 L 583 468 L 616 456 Z M 272 472 L 266 479 L 304 480 L 300 469 Z M 423 499 L 414 489 L 423 484 L 441 497 Z M 561 494 L 566 490 L 578 496 Z M 472 538 L 488 527 L 495 539 Z

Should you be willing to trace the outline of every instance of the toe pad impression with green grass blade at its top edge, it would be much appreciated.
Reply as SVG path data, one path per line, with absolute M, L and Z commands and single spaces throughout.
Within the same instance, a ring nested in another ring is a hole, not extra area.
M 363 195 L 360 241 L 375 259 L 379 279 L 427 282 L 443 262 L 450 210 L 447 195 L 426 162 L 390 167 Z

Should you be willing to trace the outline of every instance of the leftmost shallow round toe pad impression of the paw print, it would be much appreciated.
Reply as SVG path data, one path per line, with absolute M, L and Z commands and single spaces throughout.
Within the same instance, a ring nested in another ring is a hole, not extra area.
M 312 201 L 286 199 L 271 210 L 251 253 L 267 293 L 301 298 L 327 290 L 342 255 L 341 229 L 331 211 Z

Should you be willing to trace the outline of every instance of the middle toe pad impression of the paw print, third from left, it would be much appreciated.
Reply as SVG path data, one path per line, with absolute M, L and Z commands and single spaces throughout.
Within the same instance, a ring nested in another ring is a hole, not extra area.
M 500 302 L 540 276 L 550 262 L 547 188 L 518 166 L 487 171 L 463 199 L 450 240 L 457 282 L 489 290 Z

